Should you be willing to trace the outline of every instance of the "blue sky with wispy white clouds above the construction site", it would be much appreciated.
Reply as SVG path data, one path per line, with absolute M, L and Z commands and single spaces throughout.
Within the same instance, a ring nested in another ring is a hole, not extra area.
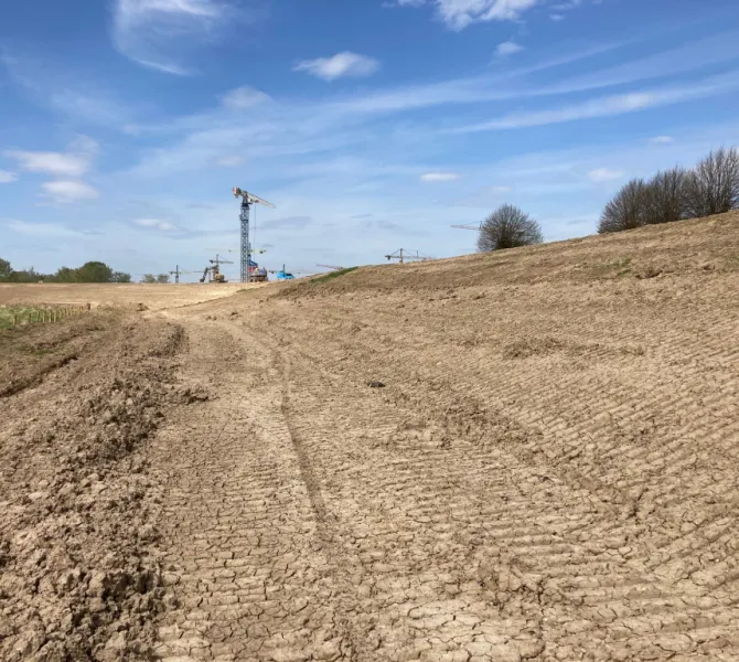
M 269 268 L 470 253 L 504 202 L 582 236 L 737 107 L 733 0 L 3 2 L 0 256 L 202 269 L 233 186 Z

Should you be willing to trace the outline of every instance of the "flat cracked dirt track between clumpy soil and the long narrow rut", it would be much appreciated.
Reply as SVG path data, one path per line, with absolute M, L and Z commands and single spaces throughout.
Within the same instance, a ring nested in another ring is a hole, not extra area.
M 228 367 L 210 384 L 215 399 L 159 439 L 159 463 L 171 473 L 162 562 L 179 602 L 161 626 L 159 655 L 351 659 L 320 524 L 280 413 L 279 374 L 257 348 L 229 340 L 225 325 L 200 327 L 191 338 L 191 380 Z

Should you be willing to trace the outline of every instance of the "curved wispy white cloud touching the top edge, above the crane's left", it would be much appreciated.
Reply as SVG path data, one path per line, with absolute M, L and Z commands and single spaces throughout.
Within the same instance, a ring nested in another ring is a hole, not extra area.
M 188 75 L 173 52 L 212 40 L 234 14 L 226 0 L 115 0 L 113 42 L 142 66 Z

